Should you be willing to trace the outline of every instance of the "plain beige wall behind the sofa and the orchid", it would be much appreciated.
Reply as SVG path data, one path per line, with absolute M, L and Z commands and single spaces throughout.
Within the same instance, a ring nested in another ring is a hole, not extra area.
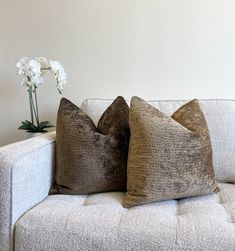
M 0 145 L 22 138 L 29 118 L 15 64 L 59 60 L 64 96 L 235 98 L 233 0 L 0 0 Z M 40 92 L 42 119 L 60 100 L 52 77 Z

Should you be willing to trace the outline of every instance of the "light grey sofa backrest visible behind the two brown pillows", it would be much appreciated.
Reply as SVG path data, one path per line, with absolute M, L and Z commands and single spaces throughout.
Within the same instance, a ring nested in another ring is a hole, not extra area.
M 171 115 L 188 100 L 151 100 L 150 104 Z M 112 103 L 107 99 L 86 99 L 81 109 L 97 124 L 105 109 Z M 217 180 L 235 183 L 235 100 L 199 100 L 206 117 Z

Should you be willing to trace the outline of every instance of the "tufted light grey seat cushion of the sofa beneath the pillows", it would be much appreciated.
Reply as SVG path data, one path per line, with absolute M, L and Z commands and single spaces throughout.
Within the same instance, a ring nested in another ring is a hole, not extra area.
M 16 250 L 235 250 L 235 185 L 123 208 L 124 193 L 52 195 L 16 224 Z

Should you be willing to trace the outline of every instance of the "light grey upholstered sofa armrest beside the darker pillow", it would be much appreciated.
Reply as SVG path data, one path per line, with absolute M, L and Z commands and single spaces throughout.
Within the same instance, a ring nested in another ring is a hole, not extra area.
M 0 249 L 12 250 L 14 225 L 48 196 L 55 163 L 55 132 L 0 148 Z

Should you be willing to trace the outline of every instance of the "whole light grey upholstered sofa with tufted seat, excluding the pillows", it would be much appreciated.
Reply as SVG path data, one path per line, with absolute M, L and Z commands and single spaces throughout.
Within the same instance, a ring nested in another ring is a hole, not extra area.
M 82 109 L 97 123 L 110 103 L 85 100 Z M 185 101 L 151 103 L 171 114 Z M 0 148 L 0 250 L 235 250 L 235 101 L 200 105 L 218 194 L 131 209 L 122 192 L 48 196 L 56 138 L 48 133 Z

